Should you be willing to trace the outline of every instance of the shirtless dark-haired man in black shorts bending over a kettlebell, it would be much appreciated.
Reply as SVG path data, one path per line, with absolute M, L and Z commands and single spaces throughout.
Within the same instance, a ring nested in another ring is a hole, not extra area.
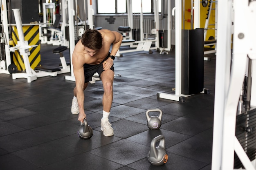
M 79 114 L 78 120 L 83 122 L 86 118 L 84 111 L 84 90 L 88 82 L 92 81 L 94 73 L 101 78 L 104 94 L 102 99 L 103 117 L 101 130 L 104 136 L 114 135 L 114 130 L 108 120 L 113 100 L 113 80 L 115 55 L 121 46 L 123 36 L 107 29 L 88 29 L 77 42 L 72 54 L 72 64 L 76 87 L 72 99 L 72 114 Z M 112 50 L 110 46 L 112 44 Z

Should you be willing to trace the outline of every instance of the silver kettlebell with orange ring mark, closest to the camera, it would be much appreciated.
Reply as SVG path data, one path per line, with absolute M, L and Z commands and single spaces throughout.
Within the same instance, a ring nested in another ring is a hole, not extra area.
M 158 146 L 155 144 L 159 142 Z M 152 139 L 150 144 L 150 151 L 148 152 L 148 161 L 154 166 L 162 166 L 168 160 L 168 155 L 165 150 L 165 138 L 159 135 Z

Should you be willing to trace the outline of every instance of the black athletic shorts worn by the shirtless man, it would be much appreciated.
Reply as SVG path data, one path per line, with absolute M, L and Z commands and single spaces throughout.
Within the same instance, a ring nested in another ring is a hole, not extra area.
M 101 78 L 101 73 L 104 71 L 102 63 L 106 61 L 109 56 L 110 53 L 108 53 L 108 56 L 100 64 L 83 64 L 85 83 L 92 81 L 92 76 L 95 73 L 98 73 L 99 78 Z M 114 71 L 114 64 L 111 66 L 110 70 Z

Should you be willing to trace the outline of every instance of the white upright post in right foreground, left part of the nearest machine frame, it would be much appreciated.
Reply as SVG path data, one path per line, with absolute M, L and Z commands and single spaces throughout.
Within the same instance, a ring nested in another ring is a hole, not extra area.
M 230 79 L 232 0 L 218 2 L 218 40 L 213 123 L 212 170 L 220 170 L 222 163 L 223 113 Z M 234 151 L 233 151 L 234 152 Z M 223 169 L 224 170 L 224 169 Z

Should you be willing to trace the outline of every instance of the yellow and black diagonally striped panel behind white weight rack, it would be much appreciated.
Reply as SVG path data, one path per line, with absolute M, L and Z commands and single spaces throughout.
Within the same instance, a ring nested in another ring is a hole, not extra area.
M 29 25 L 29 26 L 22 26 L 25 41 L 28 42 L 29 45 L 38 45 L 34 48 L 29 49 L 29 63 L 32 69 L 34 69 L 40 62 L 40 41 L 39 41 L 39 26 L 38 25 Z M 16 26 L 12 26 L 12 42 L 10 45 L 16 46 L 18 44 L 18 31 Z M 13 62 L 17 66 L 18 70 L 24 71 L 25 64 L 23 57 L 20 55 L 20 52 L 16 50 L 13 53 Z

